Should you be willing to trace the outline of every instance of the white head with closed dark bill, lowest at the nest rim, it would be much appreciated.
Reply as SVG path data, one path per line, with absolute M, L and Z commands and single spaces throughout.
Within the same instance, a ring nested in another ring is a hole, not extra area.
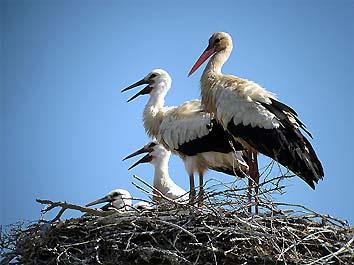
M 132 196 L 127 190 L 115 189 L 110 191 L 106 196 L 86 204 L 86 207 L 104 202 L 111 203 L 116 209 L 128 209 L 132 206 Z

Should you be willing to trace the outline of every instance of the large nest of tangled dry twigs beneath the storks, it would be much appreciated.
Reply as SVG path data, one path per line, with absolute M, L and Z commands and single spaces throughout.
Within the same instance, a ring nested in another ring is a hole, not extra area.
M 203 208 L 169 203 L 102 212 L 40 200 L 44 211 L 86 214 L 3 232 L 2 264 L 354 264 L 354 231 L 346 222 L 264 198 L 261 213 L 250 214 L 235 186 L 210 187 Z

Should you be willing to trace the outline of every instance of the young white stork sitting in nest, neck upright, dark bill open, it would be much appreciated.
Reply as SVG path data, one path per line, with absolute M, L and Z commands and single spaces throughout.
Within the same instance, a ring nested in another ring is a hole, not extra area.
M 139 154 L 148 153 L 128 170 L 141 163 L 151 163 L 154 166 L 154 188 L 160 191 L 164 196 L 171 200 L 176 200 L 182 203 L 188 202 L 188 193 L 178 186 L 170 177 L 168 173 L 168 161 L 170 160 L 171 152 L 166 150 L 163 145 L 158 144 L 156 141 L 152 141 L 146 144 L 143 148 L 128 155 L 123 159 L 137 156 Z M 156 194 L 156 192 L 154 192 Z M 161 199 L 158 196 L 154 196 L 155 202 L 160 202 Z

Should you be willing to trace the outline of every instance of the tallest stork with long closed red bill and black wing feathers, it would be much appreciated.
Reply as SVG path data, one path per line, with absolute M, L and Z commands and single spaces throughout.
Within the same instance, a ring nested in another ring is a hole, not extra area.
M 250 150 L 249 158 L 254 160 L 250 173 L 256 184 L 259 181 L 256 152 L 260 152 L 290 169 L 315 189 L 315 183 L 323 178 L 324 172 L 300 129 L 312 138 L 311 134 L 297 113 L 278 101 L 274 94 L 255 82 L 222 74 L 221 68 L 231 51 L 231 36 L 216 32 L 189 72 L 188 76 L 211 57 L 200 81 L 206 111 L 213 113 L 218 123 Z

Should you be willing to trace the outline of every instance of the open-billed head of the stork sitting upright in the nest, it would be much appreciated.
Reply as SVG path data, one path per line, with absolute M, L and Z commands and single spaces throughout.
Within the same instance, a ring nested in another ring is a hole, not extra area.
M 146 144 L 143 148 L 139 149 L 138 151 L 125 157 L 123 161 L 143 153 L 147 153 L 147 154 L 139 161 L 134 163 L 130 168 L 128 168 L 128 170 L 142 163 L 151 163 L 155 166 L 158 166 L 162 162 L 168 161 L 171 155 L 171 152 L 166 150 L 166 148 L 163 147 L 163 145 L 157 143 L 156 141 L 152 141 Z

